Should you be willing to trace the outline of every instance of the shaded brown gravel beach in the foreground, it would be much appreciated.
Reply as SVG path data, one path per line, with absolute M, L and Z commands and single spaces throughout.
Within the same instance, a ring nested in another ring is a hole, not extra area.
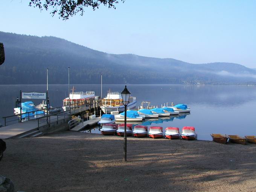
M 256 145 L 63 131 L 7 139 L 0 174 L 16 190 L 256 191 Z

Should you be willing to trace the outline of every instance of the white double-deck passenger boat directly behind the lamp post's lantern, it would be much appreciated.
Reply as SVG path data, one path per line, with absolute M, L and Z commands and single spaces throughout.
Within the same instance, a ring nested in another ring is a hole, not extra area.
M 110 114 L 111 111 L 119 111 L 123 112 L 125 107 L 122 103 L 122 95 L 119 92 L 109 92 L 107 93 L 107 97 L 102 99 L 101 110 L 105 114 Z M 136 97 L 129 98 L 129 104 L 127 108 L 134 108 L 136 107 Z

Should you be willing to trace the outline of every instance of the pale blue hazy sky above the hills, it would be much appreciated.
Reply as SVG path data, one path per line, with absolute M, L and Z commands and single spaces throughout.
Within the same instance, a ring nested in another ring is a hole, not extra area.
M 255 0 L 126 0 L 67 21 L 0 0 L 0 31 L 55 36 L 107 53 L 256 68 Z

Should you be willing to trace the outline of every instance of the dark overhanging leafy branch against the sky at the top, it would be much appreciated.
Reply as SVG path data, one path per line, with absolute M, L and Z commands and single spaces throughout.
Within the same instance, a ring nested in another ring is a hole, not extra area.
M 124 2 L 124 0 L 120 0 Z M 52 16 L 56 13 L 63 20 L 69 19 L 73 15 L 80 13 L 84 14 L 85 8 L 91 7 L 93 11 L 99 8 L 100 5 L 108 6 L 108 8 L 114 8 L 117 0 L 30 0 L 29 6 L 38 7 L 41 11 L 52 8 Z

